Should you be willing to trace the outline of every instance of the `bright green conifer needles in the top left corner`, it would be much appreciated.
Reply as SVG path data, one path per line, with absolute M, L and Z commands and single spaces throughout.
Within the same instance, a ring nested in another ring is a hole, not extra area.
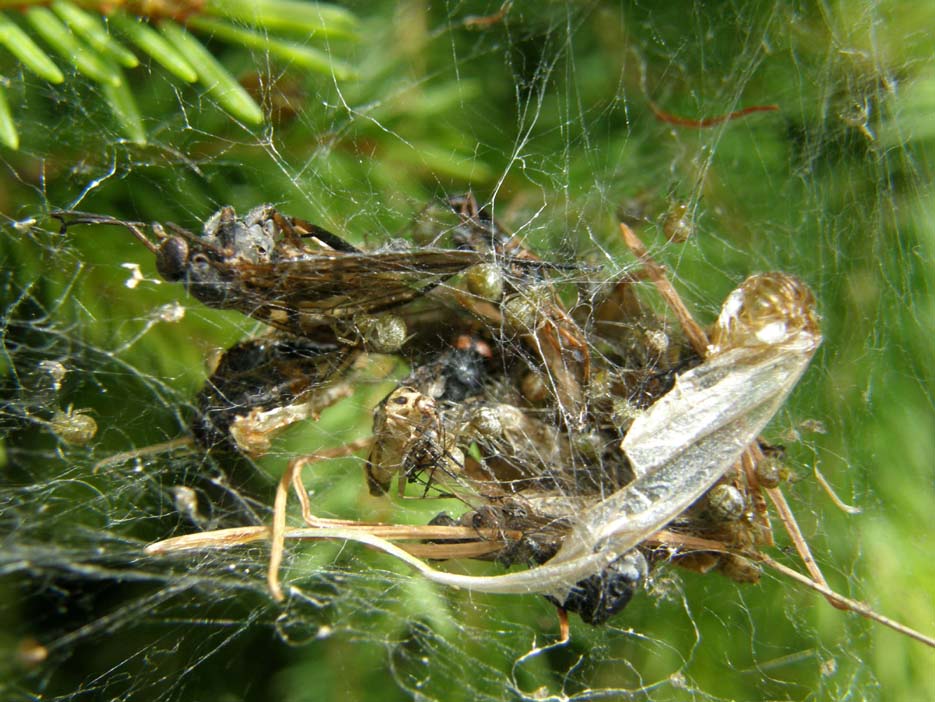
M 134 7 L 131 4 L 128 9 Z M 145 3 L 140 3 L 139 8 L 141 12 L 147 11 Z M 157 10 L 157 5 L 149 6 L 149 11 Z M 93 12 L 106 13 L 103 15 L 106 24 Z M 232 116 L 251 125 L 263 122 L 263 111 L 237 78 L 201 41 L 170 17 L 133 16 L 124 10 L 114 10 L 109 3 L 99 3 L 93 12 L 67 0 L 56 0 L 51 10 L 27 7 L 23 17 L 60 60 L 101 85 L 114 119 L 132 142 L 143 145 L 147 137 L 137 99 L 119 68 L 137 68 L 139 59 L 123 41 L 132 43 L 174 78 L 186 83 L 200 82 L 207 95 Z M 310 37 L 353 39 L 356 19 L 342 8 L 290 0 L 217 2 L 207 3 L 198 14 L 186 16 L 185 23 L 212 42 L 249 47 L 275 57 L 290 69 L 308 69 L 339 81 L 355 77 L 354 69 L 332 54 L 280 38 L 281 34 L 287 34 L 302 37 L 304 42 Z M 254 29 L 245 29 L 239 23 Z M 160 27 L 169 41 L 153 31 L 151 24 Z M 110 33 L 111 27 L 116 29 L 116 36 Z M 43 80 L 65 81 L 65 74 L 55 61 L 17 25 L 12 12 L 3 12 L 2 6 L 0 44 Z M 19 135 L 9 109 L 0 109 L 0 140 L 9 148 L 19 148 Z

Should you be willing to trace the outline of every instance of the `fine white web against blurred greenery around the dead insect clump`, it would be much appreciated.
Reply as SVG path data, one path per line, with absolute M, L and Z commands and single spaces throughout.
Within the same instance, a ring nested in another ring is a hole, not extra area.
M 29 106 L 0 194 L 4 698 L 935 696 L 931 649 L 769 570 L 738 585 L 658 563 L 622 613 L 599 627 L 572 615 L 556 644 L 544 598 L 443 588 L 359 545 L 288 543 L 283 603 L 262 541 L 144 554 L 270 524 L 288 460 L 368 435 L 406 354 L 373 358 L 353 395 L 256 461 L 145 452 L 190 434 L 207 359 L 263 326 L 160 281 L 129 233 L 63 234 L 48 212 L 197 232 L 223 205 L 270 202 L 369 250 L 430 245 L 449 226 L 444 199 L 471 190 L 530 250 L 579 264 L 556 274 L 579 305 L 636 270 L 621 220 L 703 324 L 752 273 L 807 281 L 824 345 L 765 438 L 785 448 L 783 489 L 831 586 L 931 634 L 933 85 L 913 27 L 935 18 L 912 3 L 519 5 L 362 4 L 356 42 L 323 42 L 353 81 L 205 39 L 266 122 L 146 67 L 131 75 L 146 146 L 94 84 L 3 64 Z M 779 109 L 711 119 L 766 105 Z M 684 243 L 666 236 L 679 219 Z M 639 294 L 662 313 L 651 285 Z M 76 436 L 87 418 L 96 432 Z M 316 514 L 457 515 L 454 500 L 371 497 L 364 455 L 307 470 Z M 862 512 L 836 507 L 815 471 Z M 772 521 L 768 552 L 804 572 Z

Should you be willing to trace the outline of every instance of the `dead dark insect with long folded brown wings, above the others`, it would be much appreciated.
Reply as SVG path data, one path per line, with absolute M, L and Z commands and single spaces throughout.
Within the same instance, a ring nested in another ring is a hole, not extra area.
M 224 207 L 193 234 L 174 224 L 147 225 L 82 212 L 51 215 L 72 224 L 108 224 L 128 229 L 156 256 L 159 274 L 181 282 L 198 300 L 233 309 L 295 336 L 315 335 L 336 324 L 355 344 L 376 339 L 380 351 L 395 351 L 405 339 L 374 322 L 468 267 L 484 255 L 469 250 L 362 251 L 341 237 L 269 205 L 237 217 Z M 168 231 L 167 231 L 168 230 Z M 399 326 L 398 322 L 393 323 Z

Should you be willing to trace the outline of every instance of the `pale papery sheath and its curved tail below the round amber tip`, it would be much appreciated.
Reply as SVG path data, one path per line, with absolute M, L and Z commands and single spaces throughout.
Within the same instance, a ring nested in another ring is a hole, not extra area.
M 602 572 L 664 528 L 736 463 L 778 411 L 820 342 L 817 334 L 802 334 L 787 344 L 727 351 L 683 375 L 680 383 L 644 415 L 642 423 L 646 427 L 663 426 L 665 418 L 673 414 L 695 416 L 698 421 L 690 405 L 705 401 L 712 393 L 715 397 L 723 394 L 718 403 L 721 409 L 711 417 L 701 413 L 706 428 L 690 431 L 689 436 L 694 437 L 690 441 L 663 428 L 661 431 L 668 436 L 663 443 L 671 444 L 668 458 L 643 466 L 643 472 L 632 483 L 584 510 L 559 552 L 542 566 L 492 577 L 462 576 L 425 568 L 420 568 L 421 572 L 430 580 L 453 587 L 541 593 L 559 602 L 566 601 L 576 583 Z M 755 393 L 748 395 L 757 398 L 752 404 L 745 401 L 744 394 L 737 396 L 738 388 L 744 392 L 752 389 L 748 383 L 758 386 Z M 729 402 L 731 398 L 733 402 Z M 727 405 L 732 409 L 722 411 Z M 644 427 L 637 427 L 635 436 L 645 436 L 645 431 Z M 624 448 L 642 455 L 636 438 Z

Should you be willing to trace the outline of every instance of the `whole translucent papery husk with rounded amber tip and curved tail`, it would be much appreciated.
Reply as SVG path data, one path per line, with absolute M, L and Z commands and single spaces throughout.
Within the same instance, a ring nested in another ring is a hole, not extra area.
M 714 355 L 682 375 L 622 442 L 635 479 L 586 509 L 544 565 L 494 578 L 427 574 L 488 592 L 538 592 L 564 602 L 583 578 L 602 572 L 663 529 L 711 488 L 782 406 L 821 344 L 814 299 L 782 274 L 749 278 L 718 320 Z M 725 342 L 726 344 L 726 342 Z M 423 571 L 424 572 L 424 571 Z

